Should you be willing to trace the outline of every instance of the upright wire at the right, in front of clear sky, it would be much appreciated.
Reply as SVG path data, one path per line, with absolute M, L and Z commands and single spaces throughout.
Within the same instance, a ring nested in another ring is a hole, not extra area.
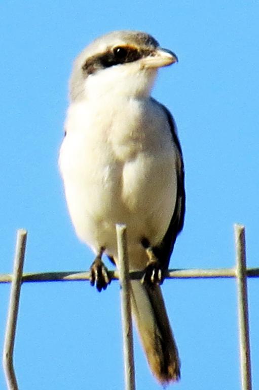
M 251 358 L 249 343 L 248 297 L 246 280 L 245 228 L 235 224 L 236 277 L 238 294 L 238 322 L 240 374 L 242 390 L 252 390 Z

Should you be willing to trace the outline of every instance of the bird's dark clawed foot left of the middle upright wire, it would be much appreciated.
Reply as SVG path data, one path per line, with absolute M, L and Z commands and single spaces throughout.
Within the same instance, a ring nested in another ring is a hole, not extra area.
M 101 259 L 102 252 L 103 250 L 95 257 L 94 262 L 90 267 L 90 284 L 91 286 L 96 285 L 98 291 L 101 291 L 102 289 L 105 290 L 110 283 L 108 270 Z

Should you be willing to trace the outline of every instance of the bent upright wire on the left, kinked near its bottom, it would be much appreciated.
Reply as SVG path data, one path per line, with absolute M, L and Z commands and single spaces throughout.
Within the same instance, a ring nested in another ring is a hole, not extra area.
M 26 238 L 27 232 L 23 229 L 18 230 L 3 353 L 3 366 L 6 375 L 7 388 L 9 390 L 18 390 L 18 384 L 13 366 L 13 353 L 22 284 L 22 270 L 24 264 Z

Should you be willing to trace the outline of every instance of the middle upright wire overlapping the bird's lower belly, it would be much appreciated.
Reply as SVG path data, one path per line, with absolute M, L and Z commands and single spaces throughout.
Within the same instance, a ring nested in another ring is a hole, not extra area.
M 125 390 L 135 390 L 133 332 L 130 306 L 130 276 L 126 225 L 117 224 L 116 232 L 118 244 L 119 274 L 121 282 L 121 312 Z

